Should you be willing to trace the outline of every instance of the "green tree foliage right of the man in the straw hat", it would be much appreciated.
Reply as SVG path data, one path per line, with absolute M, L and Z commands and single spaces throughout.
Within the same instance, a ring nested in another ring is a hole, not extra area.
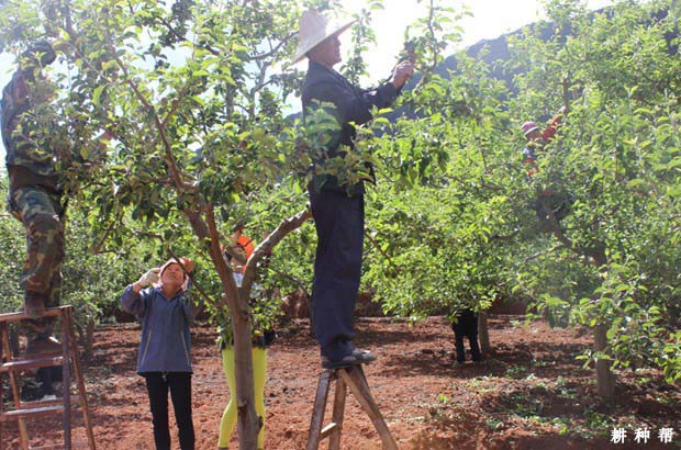
M 409 100 L 423 119 L 370 142 L 387 180 L 370 196 L 365 281 L 414 318 L 527 295 L 555 326 L 606 326 L 607 347 L 589 359 L 660 364 L 678 380 L 679 11 L 547 10 L 552 24 L 509 38 L 510 82 L 457 55 L 457 72 Z M 529 181 L 516 130 L 566 103 Z M 537 217 L 547 192 L 567 217 Z

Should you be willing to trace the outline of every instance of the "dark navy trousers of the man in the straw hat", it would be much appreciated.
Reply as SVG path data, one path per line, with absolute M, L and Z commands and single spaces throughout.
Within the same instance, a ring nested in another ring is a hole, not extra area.
M 317 234 L 312 316 L 322 356 L 337 361 L 351 353 L 353 314 L 361 277 L 365 229 L 362 194 L 310 192 Z

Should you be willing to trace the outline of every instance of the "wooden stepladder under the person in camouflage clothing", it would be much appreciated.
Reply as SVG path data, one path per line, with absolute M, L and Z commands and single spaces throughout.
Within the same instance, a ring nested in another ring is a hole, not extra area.
M 40 315 L 41 318 L 60 318 L 62 351 L 57 353 L 32 355 L 27 358 L 16 357 L 12 353 L 9 341 L 9 324 L 31 317 L 23 313 L 0 314 L 0 338 L 2 339 L 2 347 L 0 349 L 0 355 L 2 357 L 0 361 L 0 449 L 9 448 L 7 440 L 5 443 L 3 443 L 3 439 L 7 439 L 2 436 L 2 424 L 4 421 L 19 420 L 21 447 L 24 450 L 29 450 L 34 447 L 30 446 L 29 434 L 26 431 L 26 418 L 62 413 L 64 446 L 59 446 L 59 448 L 71 449 L 72 447 L 89 447 L 94 450 L 94 435 L 92 434 L 85 381 L 82 379 L 78 346 L 74 334 L 72 312 L 74 307 L 68 305 L 45 310 L 45 312 Z M 56 365 L 62 367 L 62 398 L 54 401 L 22 402 L 19 385 L 19 375 L 21 371 Z M 71 402 L 71 365 L 76 378 L 78 402 Z M 9 376 L 9 384 L 14 401 L 14 409 L 12 410 L 3 410 L 2 405 L 2 375 L 5 374 Z M 88 442 L 71 442 L 71 406 L 77 403 L 80 404 L 80 408 L 82 409 Z

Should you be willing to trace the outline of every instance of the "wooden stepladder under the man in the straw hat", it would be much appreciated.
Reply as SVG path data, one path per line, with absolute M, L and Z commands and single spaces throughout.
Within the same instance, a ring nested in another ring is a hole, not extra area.
M 336 387 L 332 421 L 322 429 L 324 410 L 326 409 L 326 398 L 328 397 L 328 390 L 333 381 L 336 382 Z M 367 383 L 367 378 L 365 376 L 361 365 L 327 369 L 320 374 L 306 450 L 319 449 L 321 441 L 325 438 L 328 438 L 330 450 L 338 450 L 340 448 L 343 415 L 345 413 L 345 398 L 348 387 L 373 423 L 373 427 L 376 427 L 381 442 L 383 443 L 383 449 L 398 450 L 398 443 L 390 434 L 390 429 L 388 429 L 388 425 L 371 396 L 371 391 L 369 390 L 369 384 Z

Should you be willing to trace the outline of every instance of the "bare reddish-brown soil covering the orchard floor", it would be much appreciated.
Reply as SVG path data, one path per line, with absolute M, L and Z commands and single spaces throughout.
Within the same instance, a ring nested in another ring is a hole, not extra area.
M 627 370 L 618 373 L 616 403 L 602 403 L 593 371 L 576 360 L 590 347 L 591 337 L 550 329 L 545 322 L 525 326 L 522 320 L 492 316 L 493 355 L 481 364 L 468 361 L 455 368 L 454 337 L 444 318 L 416 326 L 389 318 L 358 319 L 356 344 L 379 356 L 365 372 L 401 449 L 681 448 L 679 386 L 666 384 L 657 371 Z M 305 320 L 280 331 L 268 351 L 266 448 L 299 450 L 305 447 L 321 372 L 319 350 Z M 93 358 L 85 361 L 99 449 L 154 448 L 146 391 L 135 373 L 138 339 L 135 324 L 100 326 Z M 214 330 L 197 326 L 192 345 L 197 449 L 215 449 L 228 392 Z M 74 438 L 85 441 L 80 412 L 75 413 Z M 60 442 L 59 418 L 32 419 L 27 427 L 33 446 Z M 611 443 L 615 427 L 626 430 L 624 445 Z M 674 429 L 671 443 L 659 441 L 662 427 Z M 637 428 L 650 429 L 648 443 L 635 442 Z M 2 449 L 19 448 L 15 424 L 5 424 L 2 435 Z M 233 448 L 238 448 L 236 437 Z M 342 448 L 381 448 L 369 417 L 351 395 Z

